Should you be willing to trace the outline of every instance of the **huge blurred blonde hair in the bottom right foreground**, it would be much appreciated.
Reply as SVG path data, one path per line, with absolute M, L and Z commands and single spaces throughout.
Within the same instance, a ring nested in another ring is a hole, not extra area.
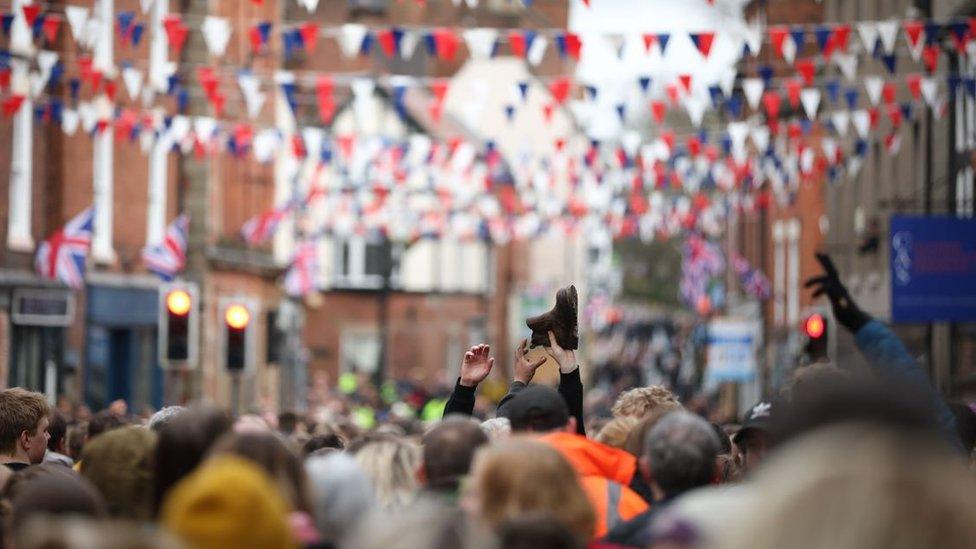
M 845 425 L 784 448 L 719 548 L 972 547 L 976 479 L 929 441 Z

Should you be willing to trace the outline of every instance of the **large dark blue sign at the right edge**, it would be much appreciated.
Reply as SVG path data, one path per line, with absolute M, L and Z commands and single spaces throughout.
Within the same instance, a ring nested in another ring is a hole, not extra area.
M 976 320 L 976 219 L 891 218 L 891 320 Z

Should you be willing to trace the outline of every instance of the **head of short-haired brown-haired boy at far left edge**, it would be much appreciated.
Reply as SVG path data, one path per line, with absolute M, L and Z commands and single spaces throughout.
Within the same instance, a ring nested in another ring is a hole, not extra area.
M 43 461 L 50 412 L 41 393 L 20 387 L 0 391 L 0 456 L 21 463 Z

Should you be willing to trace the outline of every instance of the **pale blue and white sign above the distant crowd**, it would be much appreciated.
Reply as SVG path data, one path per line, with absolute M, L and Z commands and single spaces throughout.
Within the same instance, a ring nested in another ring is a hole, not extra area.
M 756 377 L 759 323 L 740 318 L 716 318 L 708 323 L 705 355 L 708 383 L 747 382 Z

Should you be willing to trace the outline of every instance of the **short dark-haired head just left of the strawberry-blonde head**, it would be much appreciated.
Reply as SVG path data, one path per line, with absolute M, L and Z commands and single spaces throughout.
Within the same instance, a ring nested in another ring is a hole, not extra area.
M 477 422 L 466 417 L 449 417 L 424 435 L 421 482 L 430 490 L 456 492 L 461 479 L 471 470 L 474 454 L 488 437 Z

